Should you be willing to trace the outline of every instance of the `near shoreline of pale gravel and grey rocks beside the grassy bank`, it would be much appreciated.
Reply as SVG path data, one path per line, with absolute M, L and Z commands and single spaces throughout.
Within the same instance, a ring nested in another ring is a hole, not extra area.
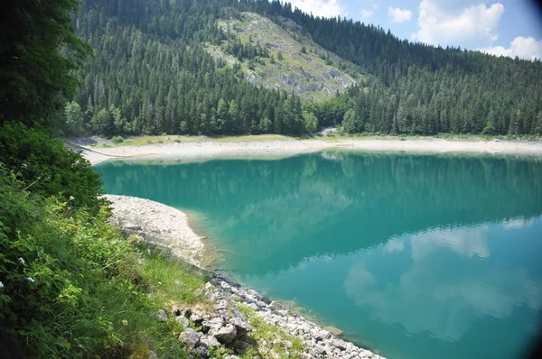
M 340 329 L 322 327 L 267 299 L 256 290 L 250 290 L 206 268 L 204 259 L 208 248 L 203 242 L 205 238 L 195 234 L 189 226 L 188 216 L 181 210 L 144 198 L 117 195 L 104 195 L 104 198 L 112 203 L 110 223 L 119 226 L 123 233 L 171 251 L 174 256 L 192 264 L 197 272 L 210 277 L 204 294 L 220 304 L 215 306 L 219 312 L 223 311 L 225 303 L 228 312 L 235 312 L 237 300 L 241 305 L 255 310 L 257 316 L 267 324 L 298 338 L 304 344 L 306 358 L 383 358 L 339 337 L 342 333 Z M 198 313 L 201 318 L 212 315 Z

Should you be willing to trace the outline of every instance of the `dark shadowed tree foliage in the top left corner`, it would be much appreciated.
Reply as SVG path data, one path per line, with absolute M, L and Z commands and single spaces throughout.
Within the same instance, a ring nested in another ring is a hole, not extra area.
M 77 0 L 8 1 L 0 14 L 0 126 L 51 124 L 78 84 L 73 70 L 90 51 L 76 36 Z

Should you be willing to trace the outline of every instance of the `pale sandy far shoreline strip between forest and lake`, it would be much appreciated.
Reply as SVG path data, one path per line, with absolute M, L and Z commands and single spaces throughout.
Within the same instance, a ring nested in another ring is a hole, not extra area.
M 280 141 L 196 141 L 184 143 L 153 143 L 119 145 L 98 149 L 67 143 L 96 165 L 111 160 L 205 161 L 218 158 L 279 159 L 322 150 L 359 152 L 410 152 L 417 154 L 471 153 L 480 155 L 523 155 L 542 157 L 542 142 L 514 141 L 450 141 L 437 138 L 280 140 Z

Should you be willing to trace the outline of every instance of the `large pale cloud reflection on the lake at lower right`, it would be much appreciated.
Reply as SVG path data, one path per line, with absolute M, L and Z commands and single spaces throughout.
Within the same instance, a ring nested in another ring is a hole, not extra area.
M 380 280 L 378 272 L 369 272 L 364 264 L 356 263 L 343 283 L 344 290 L 357 306 L 370 308 L 372 320 L 401 325 L 410 334 L 427 331 L 450 342 L 459 340 L 476 318 L 508 318 L 519 306 L 533 311 L 540 309 L 542 288 L 537 285 L 539 279 L 529 278 L 528 272 L 484 265 L 472 275 L 451 267 L 443 277 L 442 272 L 435 271 L 435 260 L 425 255 L 445 244 L 462 255 L 487 256 L 489 248 L 481 235 L 486 230 L 453 231 L 460 234 L 459 244 L 451 242 L 452 231 L 415 235 L 412 237 L 414 262 L 400 274 L 398 281 Z M 467 239 L 475 244 L 467 245 Z M 385 253 L 397 251 L 396 239 L 388 244 L 382 248 Z M 393 254 L 385 254 L 378 269 L 386 272 L 386 262 L 396 259 Z

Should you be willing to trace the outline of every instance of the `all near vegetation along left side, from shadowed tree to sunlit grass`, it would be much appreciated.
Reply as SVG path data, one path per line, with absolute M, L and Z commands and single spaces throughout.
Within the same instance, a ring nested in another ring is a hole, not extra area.
M 182 327 L 156 311 L 202 302 L 204 279 L 107 225 L 98 174 L 51 139 L 89 52 L 77 6 L 9 1 L 0 15 L 0 356 L 184 357 Z

